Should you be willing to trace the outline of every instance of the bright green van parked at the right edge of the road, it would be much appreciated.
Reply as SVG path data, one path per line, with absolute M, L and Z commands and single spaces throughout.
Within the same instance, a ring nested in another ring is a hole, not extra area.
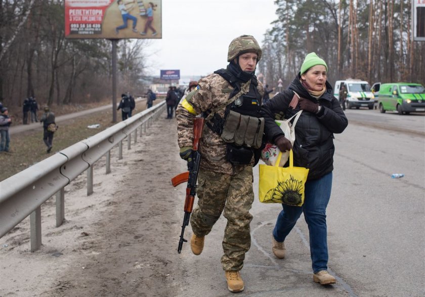
M 425 88 L 419 83 L 382 83 L 377 90 L 377 104 L 381 113 L 387 110 L 397 111 L 398 114 L 425 112 Z

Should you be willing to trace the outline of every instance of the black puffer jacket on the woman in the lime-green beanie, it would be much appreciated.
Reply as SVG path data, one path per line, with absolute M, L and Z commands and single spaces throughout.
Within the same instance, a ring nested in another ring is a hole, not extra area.
M 303 111 L 295 126 L 295 143 L 293 145 L 294 166 L 309 168 L 308 180 L 321 178 L 333 170 L 333 134 L 342 133 L 348 125 L 339 102 L 333 97 L 333 90 L 326 81 L 326 92 L 319 98 L 321 105 L 319 114 Z M 300 105 L 295 109 L 289 107 L 295 91 L 300 97 L 317 100 L 310 96 L 300 82 L 298 74 L 285 90 L 276 95 L 263 106 L 266 124 L 266 136 L 274 143 L 277 136 L 282 135 L 282 130 L 275 123 L 275 114 L 283 112 L 286 118 L 300 110 Z

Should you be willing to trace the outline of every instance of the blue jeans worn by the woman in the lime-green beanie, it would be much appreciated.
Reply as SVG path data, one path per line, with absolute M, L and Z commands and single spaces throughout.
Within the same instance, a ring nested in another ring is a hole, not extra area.
M 313 272 L 327 270 L 326 206 L 332 188 L 332 173 L 318 180 L 306 182 L 304 205 L 301 207 L 282 204 L 283 210 L 277 217 L 273 230 L 276 241 L 282 242 L 304 213 L 310 236 L 310 254 Z

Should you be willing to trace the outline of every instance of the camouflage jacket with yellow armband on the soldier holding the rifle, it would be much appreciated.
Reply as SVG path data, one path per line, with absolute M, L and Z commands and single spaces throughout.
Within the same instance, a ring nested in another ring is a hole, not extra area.
M 219 74 L 210 74 L 199 80 L 199 89 L 186 96 L 187 102 L 193 107 L 196 114 L 189 112 L 180 103 L 176 110 L 179 146 L 193 145 L 193 119 L 196 115 L 208 110 L 214 110 L 224 105 L 229 99 L 233 87 Z M 258 91 L 263 96 L 263 84 L 258 82 Z M 216 112 L 224 117 L 226 106 Z M 226 160 L 226 143 L 222 138 L 211 131 L 207 125 L 202 131 L 199 151 L 201 153 L 200 166 L 213 172 L 237 174 L 243 165 L 234 166 Z M 253 160 L 251 162 L 253 165 Z

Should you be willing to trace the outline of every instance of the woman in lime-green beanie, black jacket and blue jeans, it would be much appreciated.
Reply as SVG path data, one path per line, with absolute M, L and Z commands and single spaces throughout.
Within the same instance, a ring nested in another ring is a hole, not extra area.
M 332 187 L 333 134 L 342 133 L 348 120 L 333 90 L 326 81 L 327 65 L 315 53 L 306 56 L 300 73 L 288 90 L 277 94 L 263 106 L 266 136 L 282 151 L 292 149 L 282 130 L 274 121 L 275 114 L 286 118 L 303 110 L 295 126 L 293 146 L 294 166 L 309 168 L 305 184 L 305 201 L 301 207 L 282 204 L 273 230 L 272 250 L 279 259 L 285 257 L 284 240 L 301 213 L 309 227 L 313 280 L 320 284 L 335 283 L 327 272 L 328 250 L 326 232 L 326 206 Z M 294 93 L 299 95 L 294 108 L 289 107 Z

